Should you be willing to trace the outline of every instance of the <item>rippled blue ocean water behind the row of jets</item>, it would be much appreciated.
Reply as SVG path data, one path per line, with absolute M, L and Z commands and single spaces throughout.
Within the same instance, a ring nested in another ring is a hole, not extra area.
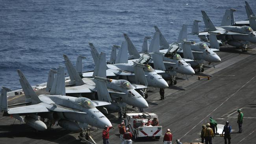
M 248 2 L 256 13 L 255 0 Z M 247 19 L 244 6 L 242 0 L 0 0 L 0 86 L 20 89 L 17 69 L 31 85 L 46 82 L 50 68 L 65 66 L 63 54 L 74 64 L 77 55 L 86 56 L 83 70 L 93 70 L 88 42 L 109 60 L 111 46 L 124 40 L 122 33 L 141 50 L 154 25 L 171 43 L 182 24 L 190 32 L 193 19 L 202 20 L 201 10 L 219 26 L 228 8 L 237 10 L 235 20 Z

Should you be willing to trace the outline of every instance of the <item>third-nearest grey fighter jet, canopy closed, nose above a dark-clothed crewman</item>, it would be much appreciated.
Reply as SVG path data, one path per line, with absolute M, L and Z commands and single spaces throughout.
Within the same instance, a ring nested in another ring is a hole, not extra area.
M 93 60 L 98 61 L 98 51 L 92 43 L 89 43 Z M 111 57 L 114 57 L 113 54 Z M 137 67 L 142 68 L 137 68 Z M 142 71 L 140 71 L 140 69 Z M 168 88 L 168 83 L 158 74 L 163 73 L 163 70 L 154 70 L 150 65 L 128 63 L 127 42 L 123 41 L 119 49 L 115 64 L 107 65 L 107 78 L 126 79 L 131 83 L 137 83 L 156 88 Z M 92 77 L 92 72 L 84 72 L 83 77 Z M 146 98 L 146 97 L 145 97 Z

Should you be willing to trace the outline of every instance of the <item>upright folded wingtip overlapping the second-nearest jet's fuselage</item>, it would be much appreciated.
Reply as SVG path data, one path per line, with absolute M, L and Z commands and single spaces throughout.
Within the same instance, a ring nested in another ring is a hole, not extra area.
M 98 94 L 98 100 L 104 100 L 111 102 L 111 97 L 108 92 L 108 88 L 106 85 L 106 82 L 109 81 L 110 79 L 106 78 L 101 78 L 101 77 L 94 77 L 94 81 L 96 84 L 96 89 L 97 89 L 97 94 Z

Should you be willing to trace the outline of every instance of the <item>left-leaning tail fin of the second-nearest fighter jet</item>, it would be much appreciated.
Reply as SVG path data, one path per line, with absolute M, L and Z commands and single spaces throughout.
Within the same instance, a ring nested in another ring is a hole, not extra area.
M 76 71 L 76 69 L 74 68 L 74 66 L 72 65 L 71 61 L 69 60 L 69 57 L 65 54 L 63 54 L 64 60 L 65 60 L 65 65 L 67 68 L 67 71 L 69 73 L 69 77 L 70 77 L 70 84 L 75 84 L 76 86 L 79 85 L 83 85 L 83 80 L 82 78 L 79 76 L 78 72 Z

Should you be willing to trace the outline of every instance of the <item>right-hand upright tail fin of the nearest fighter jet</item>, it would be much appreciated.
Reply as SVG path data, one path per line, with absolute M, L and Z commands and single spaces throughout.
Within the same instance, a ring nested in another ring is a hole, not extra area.
M 54 78 L 52 83 L 52 89 L 50 91 L 51 95 L 66 95 L 65 90 L 65 74 L 64 74 L 64 67 L 59 66 L 57 70 L 57 76 Z

